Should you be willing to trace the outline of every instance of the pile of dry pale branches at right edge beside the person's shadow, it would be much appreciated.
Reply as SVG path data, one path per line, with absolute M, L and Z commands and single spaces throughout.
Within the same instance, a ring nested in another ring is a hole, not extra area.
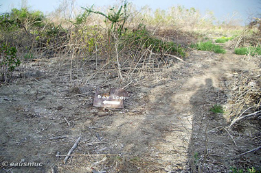
M 231 125 L 245 120 L 260 121 L 261 118 L 261 72 L 242 71 L 233 76 L 230 89 Z M 261 125 L 261 124 L 260 124 Z

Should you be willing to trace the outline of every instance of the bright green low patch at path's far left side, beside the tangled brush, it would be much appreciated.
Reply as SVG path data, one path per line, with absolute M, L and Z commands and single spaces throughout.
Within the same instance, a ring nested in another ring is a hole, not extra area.
M 201 51 L 214 51 L 215 53 L 225 53 L 225 49 L 222 46 L 213 44 L 211 41 L 208 42 L 199 42 L 196 44 L 190 45 L 192 48 L 201 50 Z

